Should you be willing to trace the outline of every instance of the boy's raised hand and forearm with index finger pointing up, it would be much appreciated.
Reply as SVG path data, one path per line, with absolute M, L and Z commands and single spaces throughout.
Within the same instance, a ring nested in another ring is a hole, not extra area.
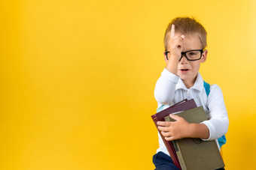
M 169 54 L 168 60 L 166 60 L 166 69 L 175 75 L 177 75 L 178 61 L 181 58 L 181 52 L 185 44 L 184 38 L 184 35 L 175 34 L 175 25 L 172 25 L 167 45 L 167 51 L 169 51 Z

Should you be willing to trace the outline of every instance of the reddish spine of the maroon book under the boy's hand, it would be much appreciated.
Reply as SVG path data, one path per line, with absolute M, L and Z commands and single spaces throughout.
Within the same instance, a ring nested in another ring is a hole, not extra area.
M 159 121 L 158 118 L 157 118 L 157 115 L 152 115 L 151 118 L 153 119 L 154 124 L 157 127 L 157 121 Z M 158 128 L 157 128 L 157 130 L 158 130 Z M 159 130 L 158 130 L 158 132 L 160 133 Z M 167 151 L 169 152 L 169 155 L 172 158 L 172 161 L 173 161 L 174 165 L 177 166 L 178 169 L 181 170 L 181 166 L 180 166 L 180 163 L 178 162 L 178 157 L 177 157 L 177 154 L 175 152 L 175 148 L 172 145 L 172 142 L 166 141 L 166 139 L 164 139 L 164 137 L 162 136 L 161 133 L 160 133 L 160 136 L 163 139 L 164 145 L 166 145 Z

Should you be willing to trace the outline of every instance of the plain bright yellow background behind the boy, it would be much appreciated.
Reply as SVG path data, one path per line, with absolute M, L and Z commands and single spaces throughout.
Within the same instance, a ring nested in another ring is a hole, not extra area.
M 255 1 L 0 1 L 0 169 L 154 169 L 151 115 L 175 16 L 208 32 L 227 170 L 255 169 Z

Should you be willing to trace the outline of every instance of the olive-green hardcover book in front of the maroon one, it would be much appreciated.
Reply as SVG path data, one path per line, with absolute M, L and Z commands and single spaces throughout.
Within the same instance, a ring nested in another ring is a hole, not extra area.
M 206 113 L 203 106 L 178 112 L 189 123 L 201 123 L 206 121 Z M 175 121 L 169 116 L 165 121 Z M 212 170 L 224 167 L 218 145 L 214 141 L 203 141 L 202 139 L 185 138 L 172 141 L 182 170 Z

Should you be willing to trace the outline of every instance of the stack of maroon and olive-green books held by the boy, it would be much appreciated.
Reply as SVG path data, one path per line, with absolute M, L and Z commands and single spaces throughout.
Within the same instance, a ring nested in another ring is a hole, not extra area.
M 157 121 L 175 121 L 169 117 L 170 114 L 181 116 L 188 123 L 201 123 L 207 120 L 203 106 L 197 107 L 194 99 L 182 100 L 180 103 L 152 115 L 151 118 L 157 127 Z M 178 169 L 211 170 L 224 167 L 221 153 L 215 141 L 193 138 L 166 141 L 161 133 L 160 136 Z

